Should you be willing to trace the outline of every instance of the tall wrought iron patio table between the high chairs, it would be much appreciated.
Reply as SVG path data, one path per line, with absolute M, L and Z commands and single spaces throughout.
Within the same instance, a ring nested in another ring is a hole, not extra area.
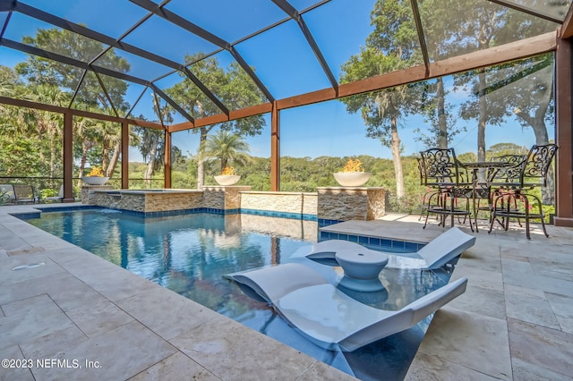
M 459 162 L 459 165 L 471 171 L 471 197 L 472 197 L 472 207 L 474 212 L 474 224 L 475 232 L 479 232 L 477 226 L 477 213 L 479 210 L 492 211 L 492 195 L 491 195 L 491 182 L 495 174 L 502 168 L 508 168 L 514 166 L 515 163 L 508 163 L 503 161 L 476 161 L 476 162 Z M 485 171 L 485 176 L 482 182 L 480 182 L 480 170 Z M 484 194 L 485 193 L 485 194 Z M 485 197 L 484 197 L 485 196 Z M 479 208 L 476 205 L 478 199 L 487 198 L 487 207 L 484 209 Z

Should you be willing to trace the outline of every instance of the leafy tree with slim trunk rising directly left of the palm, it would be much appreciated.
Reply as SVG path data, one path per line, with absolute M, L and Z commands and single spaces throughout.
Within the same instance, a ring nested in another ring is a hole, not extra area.
M 201 58 L 201 54 L 186 56 L 186 62 L 195 62 Z M 191 72 L 202 81 L 228 109 L 238 109 L 252 105 L 258 105 L 267 101 L 261 91 L 252 82 L 250 77 L 241 69 L 238 63 L 231 63 L 227 69 L 222 68 L 217 57 L 209 57 L 199 60 L 190 67 Z M 170 97 L 182 105 L 193 117 L 206 117 L 220 114 L 221 110 L 200 89 L 192 85 L 181 73 L 182 81 L 176 83 L 166 92 Z M 220 124 L 211 124 L 193 129 L 200 133 L 199 152 L 207 142 L 210 131 L 216 126 L 223 131 L 235 131 L 241 136 L 255 136 L 261 134 L 265 121 L 261 115 L 250 116 Z M 199 155 L 201 156 L 201 155 Z M 201 189 L 204 182 L 204 160 L 197 161 L 197 187 Z

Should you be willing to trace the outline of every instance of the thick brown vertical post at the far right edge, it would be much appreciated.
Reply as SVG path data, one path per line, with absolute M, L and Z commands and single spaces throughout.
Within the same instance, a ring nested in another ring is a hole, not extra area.
M 555 142 L 557 151 L 556 193 L 557 216 L 554 223 L 558 226 L 573 227 L 573 114 L 571 113 L 571 86 L 573 85 L 573 58 L 570 39 L 558 40 L 555 59 L 555 99 L 557 106 L 557 128 Z

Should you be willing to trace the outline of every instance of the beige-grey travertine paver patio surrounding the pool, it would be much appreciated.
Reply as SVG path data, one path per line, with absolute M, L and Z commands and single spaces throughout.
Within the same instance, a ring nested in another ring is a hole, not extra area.
M 2 379 L 352 378 L 15 210 L 30 206 L 0 207 L 0 358 L 46 362 L 0 368 Z M 398 215 L 329 229 L 418 241 L 442 231 Z M 467 291 L 436 313 L 406 379 L 573 378 L 573 229 L 549 232 L 475 233 L 453 275 L 468 277 Z M 13 270 L 21 265 L 32 266 Z

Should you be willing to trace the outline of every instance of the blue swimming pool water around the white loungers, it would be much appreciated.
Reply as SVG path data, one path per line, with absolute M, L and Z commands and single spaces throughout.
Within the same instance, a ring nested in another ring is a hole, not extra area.
M 430 322 L 426 318 L 405 332 L 350 353 L 325 351 L 297 334 L 266 303 L 251 299 L 224 278 L 300 261 L 300 254 L 310 250 L 318 235 L 315 224 L 313 238 L 301 239 L 309 236 L 308 222 L 238 214 L 143 218 L 107 209 L 43 213 L 28 222 L 361 379 L 404 378 Z M 278 233 L 286 231 L 281 224 L 288 225 L 290 236 Z M 300 225 L 298 236 L 293 224 Z M 271 226 L 276 232 L 269 233 Z M 341 273 L 338 267 L 304 260 L 327 278 Z M 449 273 L 385 268 L 381 280 L 386 286 L 381 292 L 341 291 L 373 307 L 400 309 L 447 284 Z

